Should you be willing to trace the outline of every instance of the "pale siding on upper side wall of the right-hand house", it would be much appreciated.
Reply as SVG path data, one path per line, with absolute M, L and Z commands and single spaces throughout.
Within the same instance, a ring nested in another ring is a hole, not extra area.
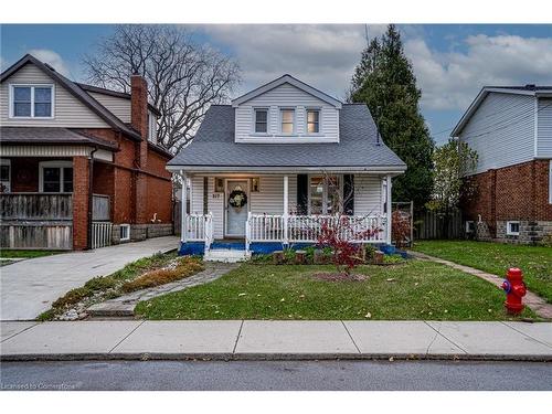
M 477 173 L 531 160 L 534 97 L 490 93 L 459 138 L 477 151 Z

